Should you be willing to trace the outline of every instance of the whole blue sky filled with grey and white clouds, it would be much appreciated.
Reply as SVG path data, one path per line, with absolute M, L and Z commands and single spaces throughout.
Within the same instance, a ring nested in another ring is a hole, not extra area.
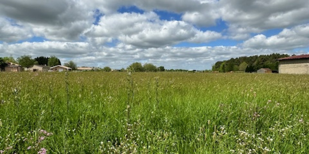
M 309 53 L 308 0 L 1 0 L 0 57 L 206 70 L 240 56 Z

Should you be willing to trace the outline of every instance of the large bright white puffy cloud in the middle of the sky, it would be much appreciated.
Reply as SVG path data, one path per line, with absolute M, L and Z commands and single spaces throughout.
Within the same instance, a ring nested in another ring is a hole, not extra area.
M 203 32 L 184 21 L 159 20 L 154 12 L 107 15 L 85 35 L 96 44 L 117 39 L 142 48 L 170 46 L 183 41 L 205 43 L 222 37 L 218 32 Z

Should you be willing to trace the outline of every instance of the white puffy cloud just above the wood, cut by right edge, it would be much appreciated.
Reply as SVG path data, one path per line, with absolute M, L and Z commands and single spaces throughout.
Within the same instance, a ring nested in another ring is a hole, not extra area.
M 263 34 L 254 36 L 243 43 L 243 47 L 262 49 L 294 49 L 308 47 L 309 24 L 283 29 L 279 34 L 266 37 Z

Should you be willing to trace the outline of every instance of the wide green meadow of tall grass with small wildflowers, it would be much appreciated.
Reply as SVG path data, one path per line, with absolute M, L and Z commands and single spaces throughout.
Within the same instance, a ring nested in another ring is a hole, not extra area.
M 308 75 L 0 78 L 0 153 L 309 153 Z

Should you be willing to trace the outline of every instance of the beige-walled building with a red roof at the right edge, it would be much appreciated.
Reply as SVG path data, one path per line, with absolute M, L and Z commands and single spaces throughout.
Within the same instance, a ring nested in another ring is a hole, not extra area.
M 277 59 L 279 73 L 309 74 L 309 55 L 298 55 Z

